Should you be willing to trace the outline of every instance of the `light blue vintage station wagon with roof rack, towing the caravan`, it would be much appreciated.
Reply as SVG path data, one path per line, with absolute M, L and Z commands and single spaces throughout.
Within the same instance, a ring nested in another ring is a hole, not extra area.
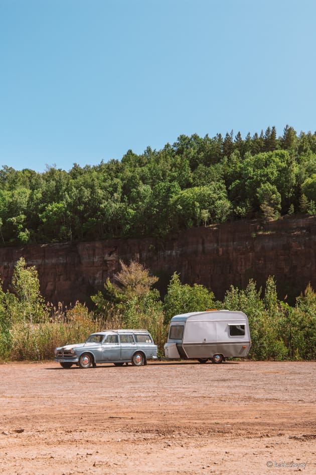
M 63 368 L 73 364 L 80 368 L 95 367 L 97 363 L 134 366 L 157 359 L 157 346 L 146 330 L 107 330 L 92 333 L 84 343 L 65 345 L 55 349 L 55 361 Z

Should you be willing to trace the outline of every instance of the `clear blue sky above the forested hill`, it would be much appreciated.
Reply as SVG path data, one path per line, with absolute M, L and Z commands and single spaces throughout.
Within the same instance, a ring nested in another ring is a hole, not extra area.
M 0 0 L 0 166 L 316 130 L 314 0 Z

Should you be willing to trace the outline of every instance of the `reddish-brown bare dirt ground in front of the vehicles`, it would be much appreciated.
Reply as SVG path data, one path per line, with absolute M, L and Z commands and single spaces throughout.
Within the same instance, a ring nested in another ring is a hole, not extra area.
M 314 475 L 315 369 L 2 364 L 0 473 Z

